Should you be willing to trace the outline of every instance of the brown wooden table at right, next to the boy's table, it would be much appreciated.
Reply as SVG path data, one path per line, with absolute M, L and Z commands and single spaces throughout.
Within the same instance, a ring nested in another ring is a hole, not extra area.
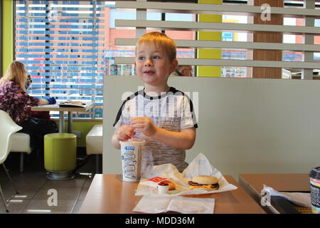
M 309 192 L 309 175 L 299 174 L 241 174 L 239 183 L 255 201 L 260 204 L 263 185 L 272 187 L 279 192 Z M 261 205 L 261 204 L 260 204 Z M 261 206 L 262 207 L 262 206 Z M 262 207 L 268 213 L 282 213 L 282 209 L 275 203 Z

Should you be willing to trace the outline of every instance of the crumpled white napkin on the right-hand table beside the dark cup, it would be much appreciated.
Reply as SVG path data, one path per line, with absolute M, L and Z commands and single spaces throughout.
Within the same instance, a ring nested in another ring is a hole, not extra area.
M 278 192 L 274 190 L 272 187 L 268 187 L 267 185 L 263 185 L 263 190 L 270 193 L 270 196 L 279 196 L 284 197 L 284 199 L 293 202 L 302 207 L 311 207 L 310 201 L 310 193 L 303 192 Z M 262 191 L 263 191 L 262 190 Z

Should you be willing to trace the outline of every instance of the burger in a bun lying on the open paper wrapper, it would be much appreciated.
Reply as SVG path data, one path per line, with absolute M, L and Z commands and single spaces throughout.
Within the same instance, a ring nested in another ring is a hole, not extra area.
M 199 175 L 193 177 L 191 181 L 188 182 L 190 185 L 189 190 L 193 190 L 194 188 L 204 188 L 206 190 L 218 190 L 219 180 L 217 177 L 209 176 L 209 175 Z

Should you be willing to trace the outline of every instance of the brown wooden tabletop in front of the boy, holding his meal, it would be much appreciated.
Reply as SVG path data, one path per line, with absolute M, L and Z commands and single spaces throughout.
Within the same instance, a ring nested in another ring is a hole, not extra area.
M 225 179 L 238 187 L 230 192 L 191 197 L 214 198 L 215 214 L 263 214 L 264 210 L 231 177 Z M 134 196 L 138 182 L 122 182 L 122 175 L 95 175 L 82 203 L 80 214 L 132 214 L 142 196 Z

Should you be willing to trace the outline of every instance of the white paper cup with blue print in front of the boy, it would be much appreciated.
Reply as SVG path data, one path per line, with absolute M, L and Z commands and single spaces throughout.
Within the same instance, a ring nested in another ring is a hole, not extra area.
M 144 140 L 139 139 L 120 142 L 123 181 L 137 182 L 140 180 L 144 143 Z

